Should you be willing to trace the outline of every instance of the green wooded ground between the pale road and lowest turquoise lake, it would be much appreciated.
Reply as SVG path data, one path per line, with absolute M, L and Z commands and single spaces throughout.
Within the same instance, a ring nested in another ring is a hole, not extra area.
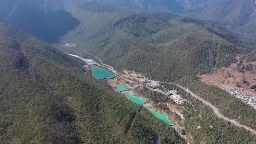
M 195 144 L 254 144 L 256 142 L 255 135 L 219 119 L 213 115 L 210 108 L 177 85 L 168 83 L 162 85 L 169 90 L 178 90 L 183 98 L 191 102 L 183 104 L 184 127 L 185 131 L 193 136 Z

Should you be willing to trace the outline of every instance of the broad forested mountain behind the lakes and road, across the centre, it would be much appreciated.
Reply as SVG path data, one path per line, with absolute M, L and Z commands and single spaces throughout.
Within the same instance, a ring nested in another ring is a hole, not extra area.
M 201 83 L 196 74 L 227 67 L 238 56 L 255 60 L 256 40 L 234 34 L 208 21 L 171 13 L 86 11 L 66 9 L 80 25 L 61 41 L 75 43 L 64 48 L 80 56 L 96 55 L 119 72 L 134 70 L 160 81 L 179 83 L 212 103 L 231 119 L 256 129 L 256 111 L 218 87 Z M 246 110 L 244 110 L 246 109 Z

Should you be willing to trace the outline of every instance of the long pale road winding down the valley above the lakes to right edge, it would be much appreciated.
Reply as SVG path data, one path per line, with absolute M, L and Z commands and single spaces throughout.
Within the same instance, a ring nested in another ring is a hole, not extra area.
M 79 48 L 79 49 L 82 49 L 82 48 Z M 84 50 L 84 49 L 82 49 L 82 50 Z M 85 51 L 85 50 L 84 50 L 84 51 Z M 85 51 L 85 52 L 86 52 L 86 51 Z M 111 67 L 111 66 L 109 66 L 109 65 L 107 65 L 107 64 L 102 63 L 102 61 L 101 61 L 98 57 L 96 57 L 96 56 L 94 56 L 94 55 L 92 55 L 92 54 L 90 54 L 90 53 L 88 53 L 88 52 L 86 52 L 86 53 L 89 54 L 89 55 L 91 55 L 91 56 L 93 56 L 93 57 L 95 57 L 95 58 L 97 58 L 103 66 L 107 67 L 108 69 L 110 69 L 110 70 L 111 70 L 112 72 L 114 72 L 115 74 L 118 73 L 118 74 L 122 75 L 123 77 L 132 78 L 132 79 L 136 79 L 136 80 L 139 80 L 139 81 L 145 81 L 145 80 L 146 80 L 146 79 L 142 79 L 142 78 L 135 78 L 135 77 L 127 76 L 127 75 L 124 75 L 124 74 L 122 74 L 122 73 L 120 73 L 120 72 L 116 72 L 116 71 L 113 69 L 113 67 Z M 154 80 L 151 80 L 151 81 L 157 82 L 157 83 L 162 83 L 162 82 L 160 82 L 160 81 L 154 81 Z M 245 126 L 245 125 L 243 125 L 243 124 L 240 124 L 239 122 L 237 122 L 237 121 L 235 121 L 235 120 L 232 120 L 232 119 L 229 119 L 229 118 L 225 117 L 224 115 L 222 115 L 222 114 L 219 112 L 218 108 L 214 107 L 211 103 L 209 103 L 208 101 L 202 99 L 202 98 L 199 97 L 199 96 L 196 96 L 194 93 L 192 93 L 191 91 L 189 91 L 189 89 L 184 88 L 183 86 L 181 86 L 181 85 L 179 85 L 179 84 L 177 84 L 177 85 L 178 85 L 180 88 L 182 88 L 183 90 L 185 90 L 187 93 L 190 93 L 191 96 L 194 96 L 195 98 L 197 98 L 197 99 L 199 99 L 200 101 L 202 101 L 203 103 L 205 103 L 209 108 L 212 108 L 212 109 L 213 109 L 213 112 L 214 112 L 219 118 L 222 118 L 223 120 L 230 121 L 232 124 L 234 124 L 234 125 L 236 125 L 236 126 L 239 126 L 239 127 L 243 127 L 244 129 L 249 130 L 250 132 L 252 132 L 252 133 L 254 133 L 254 134 L 256 135 L 256 131 L 253 130 L 252 128 L 247 127 L 247 126 Z

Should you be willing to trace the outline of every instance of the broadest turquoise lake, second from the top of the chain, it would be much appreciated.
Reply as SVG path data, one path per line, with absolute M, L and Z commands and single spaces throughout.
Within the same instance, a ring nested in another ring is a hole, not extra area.
M 115 76 L 113 72 L 110 72 L 107 69 L 103 69 L 97 66 L 92 66 L 91 70 L 93 71 L 92 75 L 95 76 L 96 78 L 106 78 L 106 77 Z

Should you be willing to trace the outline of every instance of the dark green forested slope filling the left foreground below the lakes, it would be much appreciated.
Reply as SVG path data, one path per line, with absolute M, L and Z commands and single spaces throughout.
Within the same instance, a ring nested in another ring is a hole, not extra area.
M 183 143 L 84 64 L 0 21 L 0 142 Z

